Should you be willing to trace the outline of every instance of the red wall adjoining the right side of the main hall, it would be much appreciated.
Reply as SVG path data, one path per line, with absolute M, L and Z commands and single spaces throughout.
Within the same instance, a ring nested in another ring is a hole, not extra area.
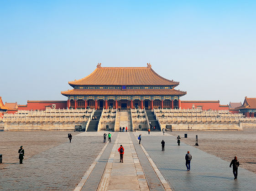
M 192 109 L 193 105 L 202 110 L 229 110 L 228 105 L 219 105 L 219 101 L 181 101 L 181 109 Z

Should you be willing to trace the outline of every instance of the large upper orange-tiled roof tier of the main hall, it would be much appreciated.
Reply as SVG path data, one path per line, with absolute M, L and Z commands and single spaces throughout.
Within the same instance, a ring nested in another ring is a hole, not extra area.
M 90 75 L 69 81 L 69 85 L 179 85 L 179 82 L 167 80 L 147 67 L 101 67 L 97 65 Z

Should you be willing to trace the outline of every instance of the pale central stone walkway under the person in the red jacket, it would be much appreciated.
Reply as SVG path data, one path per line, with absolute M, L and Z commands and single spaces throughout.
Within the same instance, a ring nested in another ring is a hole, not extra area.
M 117 149 L 125 149 L 124 163 L 120 163 Z M 110 153 L 98 191 L 149 191 L 130 133 L 120 132 Z

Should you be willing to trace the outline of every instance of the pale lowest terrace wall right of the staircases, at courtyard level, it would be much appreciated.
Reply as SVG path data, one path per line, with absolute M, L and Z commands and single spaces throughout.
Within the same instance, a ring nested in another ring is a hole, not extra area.
M 166 128 L 166 125 L 171 125 L 172 130 L 243 130 L 241 123 L 172 123 L 161 124 L 161 129 Z

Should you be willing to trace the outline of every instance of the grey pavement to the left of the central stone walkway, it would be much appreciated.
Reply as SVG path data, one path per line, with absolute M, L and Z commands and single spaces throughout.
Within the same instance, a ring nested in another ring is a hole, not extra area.
M 71 143 L 65 137 L 65 143 L 1 169 L 0 190 L 73 190 L 105 145 L 102 135 L 73 136 Z

